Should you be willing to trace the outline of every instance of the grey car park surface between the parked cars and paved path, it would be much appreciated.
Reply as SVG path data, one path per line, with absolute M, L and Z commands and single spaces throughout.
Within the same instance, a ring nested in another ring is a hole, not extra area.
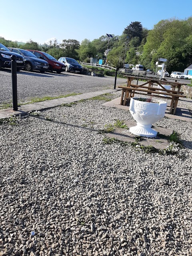
M 117 85 L 126 82 L 117 78 Z M 114 77 L 86 76 L 76 73 L 61 74 L 26 72 L 17 74 L 18 102 L 27 102 L 33 97 L 59 96 L 73 92 L 86 93 L 114 88 Z M 12 76 L 9 69 L 0 71 L 0 104 L 12 102 Z

